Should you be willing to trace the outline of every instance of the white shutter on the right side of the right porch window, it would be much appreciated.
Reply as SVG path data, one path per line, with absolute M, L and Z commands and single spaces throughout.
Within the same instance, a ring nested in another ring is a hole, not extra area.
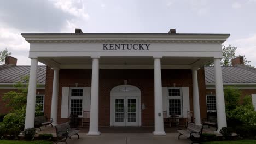
M 183 117 L 187 118 L 187 111 L 190 111 L 189 87 L 182 87 L 182 103 L 183 103 Z

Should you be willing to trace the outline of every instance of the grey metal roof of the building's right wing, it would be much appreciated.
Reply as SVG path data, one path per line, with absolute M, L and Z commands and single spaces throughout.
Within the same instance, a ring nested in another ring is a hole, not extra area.
M 222 67 L 223 83 L 256 83 L 256 69 L 246 65 Z M 214 67 L 205 67 L 205 83 L 215 83 Z

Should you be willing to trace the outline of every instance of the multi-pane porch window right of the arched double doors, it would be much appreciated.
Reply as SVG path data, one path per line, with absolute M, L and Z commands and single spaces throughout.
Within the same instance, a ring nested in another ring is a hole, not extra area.
M 182 110 L 182 89 L 168 88 L 169 115 L 183 115 Z

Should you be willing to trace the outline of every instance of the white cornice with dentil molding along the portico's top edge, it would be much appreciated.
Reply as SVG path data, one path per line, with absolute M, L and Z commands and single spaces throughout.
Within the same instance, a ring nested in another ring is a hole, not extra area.
M 223 43 L 229 37 L 229 35 L 168 35 L 168 34 L 86 34 L 86 35 L 75 35 L 75 34 L 24 34 L 22 37 L 26 41 L 32 43 L 37 40 L 215 40 Z

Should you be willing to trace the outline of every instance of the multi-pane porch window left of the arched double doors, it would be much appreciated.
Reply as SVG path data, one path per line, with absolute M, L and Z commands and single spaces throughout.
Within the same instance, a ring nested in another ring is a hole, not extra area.
M 69 113 L 82 116 L 83 113 L 83 88 L 71 88 Z

